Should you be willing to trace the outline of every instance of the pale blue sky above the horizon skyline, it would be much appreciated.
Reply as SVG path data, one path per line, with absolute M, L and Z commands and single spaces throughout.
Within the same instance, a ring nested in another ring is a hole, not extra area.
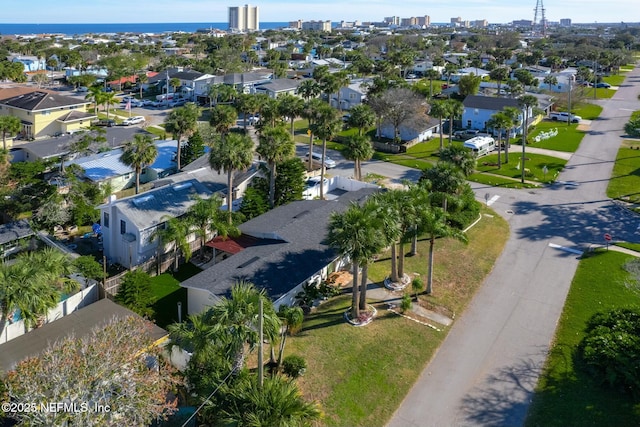
M 0 0 L 0 23 L 226 22 L 224 0 Z M 297 19 L 381 21 L 386 16 L 429 15 L 432 22 L 533 19 L 536 0 L 262 0 L 260 21 Z M 547 0 L 549 21 L 638 22 L 638 0 Z

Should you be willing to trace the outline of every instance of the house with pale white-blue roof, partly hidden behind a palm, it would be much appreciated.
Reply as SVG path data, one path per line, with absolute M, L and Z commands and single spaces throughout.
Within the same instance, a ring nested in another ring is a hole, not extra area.
M 153 164 L 145 167 L 140 174 L 140 183 L 155 181 L 176 171 L 176 151 L 178 142 L 175 140 L 160 141 L 156 143 L 158 156 Z M 65 165 L 75 164 L 84 172 L 82 177 L 101 185 L 110 185 L 116 192 L 135 185 L 135 171 L 127 166 L 120 158 L 124 148 L 104 153 L 92 154 L 65 162 Z

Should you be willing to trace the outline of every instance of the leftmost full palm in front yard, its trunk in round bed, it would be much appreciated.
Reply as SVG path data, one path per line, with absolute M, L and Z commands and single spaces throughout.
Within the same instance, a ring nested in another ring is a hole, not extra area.
M 336 251 L 351 260 L 353 286 L 351 318 L 358 319 L 362 307 L 358 273 L 385 246 L 386 240 L 379 218 L 378 204 L 367 201 L 363 206 L 351 204 L 346 211 L 332 212 L 327 226 L 327 241 Z M 364 273 L 363 273 L 364 274 Z M 365 282 L 366 283 L 366 282 Z

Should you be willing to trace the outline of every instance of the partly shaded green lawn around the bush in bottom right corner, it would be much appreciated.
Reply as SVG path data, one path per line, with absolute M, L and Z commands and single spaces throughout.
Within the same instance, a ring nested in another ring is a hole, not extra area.
M 576 367 L 575 348 L 595 313 L 637 304 L 621 266 L 631 259 L 600 251 L 580 261 L 556 330 L 554 344 L 529 410 L 527 427 L 640 425 L 638 401 L 601 388 Z

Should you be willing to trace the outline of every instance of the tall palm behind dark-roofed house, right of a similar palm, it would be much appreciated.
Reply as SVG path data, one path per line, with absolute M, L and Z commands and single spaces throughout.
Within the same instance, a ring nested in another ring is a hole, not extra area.
M 273 208 L 276 193 L 276 164 L 293 156 L 296 150 L 291 135 L 282 126 L 266 127 L 260 131 L 257 153 L 269 165 L 269 206 Z

